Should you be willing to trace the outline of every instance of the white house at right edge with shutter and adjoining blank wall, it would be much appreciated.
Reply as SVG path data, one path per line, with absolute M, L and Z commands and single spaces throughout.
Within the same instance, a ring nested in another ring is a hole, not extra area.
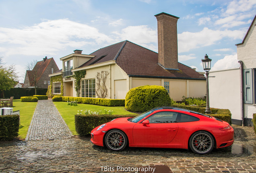
M 209 98 L 211 107 L 229 109 L 232 124 L 252 125 L 256 113 L 256 16 L 237 46 L 239 68 L 210 71 Z

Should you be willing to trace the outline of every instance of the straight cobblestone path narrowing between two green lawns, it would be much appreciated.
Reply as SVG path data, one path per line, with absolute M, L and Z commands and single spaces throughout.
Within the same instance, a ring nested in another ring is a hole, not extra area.
M 71 132 L 52 100 L 39 100 L 26 141 L 71 138 Z

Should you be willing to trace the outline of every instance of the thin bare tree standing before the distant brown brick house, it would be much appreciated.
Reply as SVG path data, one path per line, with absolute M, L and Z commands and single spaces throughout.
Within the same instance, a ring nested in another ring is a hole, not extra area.
M 37 60 L 33 60 L 27 64 L 27 70 L 29 70 L 28 78 L 30 81 L 31 86 L 33 85 L 35 87 L 35 95 L 37 95 L 37 84 L 38 84 L 38 66 Z

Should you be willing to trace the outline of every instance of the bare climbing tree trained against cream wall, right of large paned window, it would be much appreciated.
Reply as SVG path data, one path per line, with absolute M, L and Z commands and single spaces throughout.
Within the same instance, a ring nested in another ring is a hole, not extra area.
M 109 75 L 109 72 L 107 71 L 101 71 L 100 73 L 97 72 L 97 75 L 96 75 L 96 79 L 97 79 L 96 94 L 101 99 L 105 99 L 107 97 L 107 87 L 106 87 L 107 75 Z

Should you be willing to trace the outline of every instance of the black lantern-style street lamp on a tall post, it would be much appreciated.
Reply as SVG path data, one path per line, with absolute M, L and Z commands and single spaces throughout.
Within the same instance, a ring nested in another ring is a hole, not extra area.
M 206 75 L 206 109 L 205 113 L 210 114 L 210 106 L 209 106 L 209 71 L 211 70 L 211 61 L 212 59 L 208 58 L 208 55 L 205 54 L 204 59 L 202 59 L 205 75 Z

